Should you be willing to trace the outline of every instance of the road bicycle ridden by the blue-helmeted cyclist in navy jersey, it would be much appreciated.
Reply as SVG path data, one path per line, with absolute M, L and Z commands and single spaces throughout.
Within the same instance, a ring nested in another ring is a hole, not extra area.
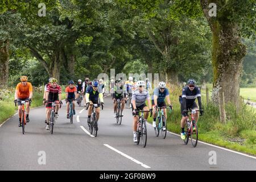
M 89 106 L 92 106 L 92 115 L 90 117 L 90 124 L 88 124 L 89 131 L 90 131 L 91 135 L 93 135 L 94 137 L 97 137 L 97 133 L 98 133 L 98 119 L 96 117 L 95 108 L 101 106 L 102 110 L 103 110 L 103 105 L 102 104 L 87 104 L 86 105 L 86 110 L 88 110 Z

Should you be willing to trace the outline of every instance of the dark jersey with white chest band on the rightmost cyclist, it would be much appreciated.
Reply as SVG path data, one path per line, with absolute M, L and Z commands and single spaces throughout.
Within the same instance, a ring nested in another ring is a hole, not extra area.
M 182 98 L 186 98 L 186 105 L 192 105 L 195 102 L 197 97 L 201 97 L 200 88 L 195 86 L 195 89 L 192 91 L 189 90 L 188 86 L 185 86 L 182 89 Z

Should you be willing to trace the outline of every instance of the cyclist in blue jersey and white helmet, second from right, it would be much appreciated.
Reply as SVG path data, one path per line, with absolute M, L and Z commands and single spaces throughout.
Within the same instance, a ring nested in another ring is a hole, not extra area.
M 159 87 L 155 88 L 154 90 L 154 95 L 152 96 L 152 106 L 153 106 L 153 127 L 156 127 L 156 109 L 158 107 L 166 107 L 166 102 L 164 100 L 166 99 L 168 102 L 169 107 L 172 109 L 171 101 L 170 101 L 170 93 L 169 90 L 166 88 L 166 83 L 165 82 L 160 82 Z M 167 114 L 166 114 L 166 109 L 164 111 L 164 117 L 166 117 L 167 121 Z M 164 124 L 164 123 L 163 123 Z M 163 131 L 166 130 L 166 126 L 163 126 Z

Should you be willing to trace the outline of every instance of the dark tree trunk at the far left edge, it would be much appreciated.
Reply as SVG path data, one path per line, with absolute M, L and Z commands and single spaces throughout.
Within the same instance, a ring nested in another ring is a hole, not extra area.
M 0 41 L 0 88 L 8 86 L 9 78 L 9 40 Z

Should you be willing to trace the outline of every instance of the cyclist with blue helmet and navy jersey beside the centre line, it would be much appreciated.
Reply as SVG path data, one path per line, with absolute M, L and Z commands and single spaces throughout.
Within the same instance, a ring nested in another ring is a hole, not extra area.
M 104 105 L 103 95 L 98 92 L 98 81 L 92 81 L 92 86 L 86 88 L 86 105 L 89 104 L 98 104 L 98 98 L 100 98 L 101 105 Z M 87 123 L 90 125 L 90 116 L 92 114 L 92 106 L 88 107 L 88 119 Z M 96 108 L 96 117 L 97 120 L 100 118 L 100 107 Z

